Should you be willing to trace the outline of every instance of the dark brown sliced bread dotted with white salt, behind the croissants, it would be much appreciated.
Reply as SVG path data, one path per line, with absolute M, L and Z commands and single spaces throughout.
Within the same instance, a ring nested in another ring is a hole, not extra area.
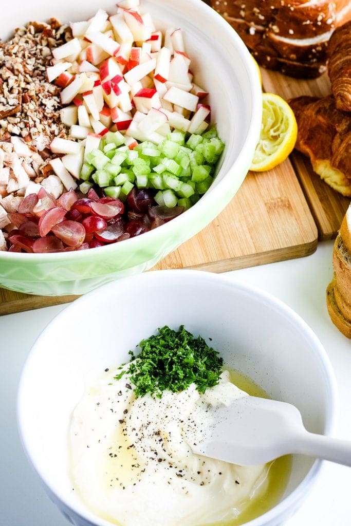
M 293 77 L 326 70 L 334 29 L 351 16 L 347 0 L 212 0 L 257 62 Z

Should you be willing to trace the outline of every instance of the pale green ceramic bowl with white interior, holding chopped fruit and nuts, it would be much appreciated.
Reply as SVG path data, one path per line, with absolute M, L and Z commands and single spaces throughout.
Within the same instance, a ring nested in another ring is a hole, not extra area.
M 62 22 L 78 21 L 92 16 L 99 7 L 116 12 L 115 4 L 98 0 L 61 0 L 55 6 L 46 0 L 20 0 L 17 7 L 7 9 L 0 19 L 3 39 L 29 20 L 55 16 Z M 159 28 L 183 29 L 194 76 L 210 93 L 212 121 L 226 145 L 212 187 L 184 214 L 117 244 L 53 254 L 0 252 L 0 286 L 46 296 L 85 294 L 99 285 L 147 270 L 208 225 L 242 184 L 262 116 L 259 78 L 245 45 L 201 0 L 142 0 L 142 7 Z

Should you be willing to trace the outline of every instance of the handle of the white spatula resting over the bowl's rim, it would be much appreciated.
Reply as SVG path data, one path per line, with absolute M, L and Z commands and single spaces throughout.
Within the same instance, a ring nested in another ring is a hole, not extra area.
M 351 467 L 351 441 L 302 433 L 295 442 L 295 453 L 302 453 Z

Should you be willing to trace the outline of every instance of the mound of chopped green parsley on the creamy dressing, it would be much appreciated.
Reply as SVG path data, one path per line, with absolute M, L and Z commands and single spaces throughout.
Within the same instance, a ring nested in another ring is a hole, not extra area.
M 201 336 L 194 338 L 183 325 L 178 331 L 159 328 L 157 335 L 142 340 L 138 347 L 141 352 L 135 356 L 129 351 L 131 362 L 114 377 L 120 380 L 127 374 L 136 397 L 151 393 L 161 398 L 164 390 L 183 391 L 191 383 L 204 393 L 217 385 L 222 373 L 223 359 L 218 351 L 208 347 Z

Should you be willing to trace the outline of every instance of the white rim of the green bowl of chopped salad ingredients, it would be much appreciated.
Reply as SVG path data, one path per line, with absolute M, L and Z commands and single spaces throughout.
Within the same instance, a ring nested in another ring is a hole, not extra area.
M 233 164 L 228 168 L 228 171 L 236 170 L 238 173 L 242 173 L 243 171 L 245 171 L 246 167 L 247 170 L 249 168 L 249 163 L 247 162 L 247 159 L 251 160 L 254 155 L 253 144 L 256 145 L 257 140 L 259 138 L 259 131 L 262 120 L 262 88 L 260 85 L 257 68 L 255 66 L 254 60 L 250 58 L 251 55 L 246 45 L 239 37 L 235 29 L 232 26 L 230 26 L 230 24 L 226 22 L 225 19 L 215 11 L 215 9 L 207 5 L 203 0 L 187 0 L 187 4 L 189 5 L 190 10 L 195 9 L 195 11 L 198 11 L 199 13 L 202 12 L 203 14 L 210 16 L 213 19 L 213 21 L 218 25 L 219 31 L 222 34 L 224 34 L 226 38 L 229 38 L 234 43 L 235 47 L 238 49 L 240 57 L 242 58 L 243 67 L 245 67 L 248 78 L 250 80 L 250 88 L 252 95 L 252 112 L 250 115 L 250 122 L 243 147 L 240 149 Z M 193 11 L 192 13 L 194 15 Z M 226 144 L 225 146 L 228 148 L 229 145 Z M 244 169 L 240 170 L 240 167 Z M 244 175 L 242 176 L 240 185 L 242 184 L 245 176 L 246 173 L 244 173 Z M 168 221 L 164 225 L 161 225 L 163 229 L 163 235 L 166 236 L 168 234 L 168 236 L 171 236 L 173 231 L 176 231 L 182 227 L 186 228 L 186 224 L 188 224 L 188 221 L 196 219 L 196 217 L 199 215 L 198 213 L 200 213 L 201 210 L 206 208 L 209 200 L 216 201 L 221 196 L 230 195 L 230 189 L 232 186 L 233 185 L 232 181 L 230 180 L 230 177 L 220 181 L 219 184 L 215 185 L 210 192 L 206 192 L 197 201 L 195 205 L 186 210 L 186 213 L 180 214 L 179 216 L 172 219 L 172 221 Z M 143 246 L 144 244 L 151 244 L 153 240 L 157 238 L 157 232 L 159 232 L 159 228 L 160 227 L 157 227 L 153 230 L 149 230 L 148 232 L 144 232 L 141 236 L 125 239 L 123 241 L 123 247 L 125 247 L 125 249 L 131 247 L 131 249 L 133 249 L 133 247 L 137 248 L 139 245 Z M 104 250 L 104 252 L 102 250 Z M 115 242 L 108 245 L 104 245 L 102 247 L 89 248 L 87 250 L 73 250 L 67 252 L 39 252 L 29 254 L 28 252 L 19 253 L 0 251 L 0 260 L 3 259 L 3 261 L 10 262 L 23 261 L 34 264 L 38 262 L 48 263 L 50 261 L 59 261 L 61 259 L 67 262 L 74 262 L 80 261 L 82 259 L 95 259 L 97 257 L 96 254 L 107 256 L 109 254 L 109 251 L 112 251 L 111 253 L 114 254 L 118 250 L 122 250 L 122 248 L 118 242 Z

